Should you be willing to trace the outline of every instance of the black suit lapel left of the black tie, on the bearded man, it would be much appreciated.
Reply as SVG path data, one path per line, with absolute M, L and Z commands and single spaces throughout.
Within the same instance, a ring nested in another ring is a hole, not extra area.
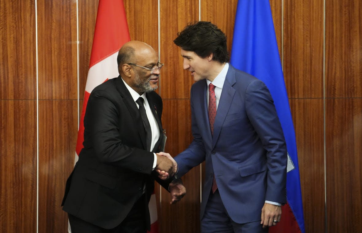
M 121 76 L 118 76 L 115 80 L 116 88 L 121 95 L 123 101 L 125 102 L 128 111 L 131 114 L 131 118 L 133 119 L 135 128 L 138 130 L 140 140 L 142 141 L 143 148 L 146 149 L 146 132 L 144 131 L 144 126 L 142 123 L 142 118 L 139 113 L 139 110 L 135 104 L 135 101 L 133 100 L 130 92 L 128 91 L 127 87 L 121 80 Z

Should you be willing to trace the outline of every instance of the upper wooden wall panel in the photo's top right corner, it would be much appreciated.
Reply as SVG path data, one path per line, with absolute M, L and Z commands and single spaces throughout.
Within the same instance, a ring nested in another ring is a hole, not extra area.
M 362 97 L 362 2 L 333 0 L 325 12 L 326 96 Z

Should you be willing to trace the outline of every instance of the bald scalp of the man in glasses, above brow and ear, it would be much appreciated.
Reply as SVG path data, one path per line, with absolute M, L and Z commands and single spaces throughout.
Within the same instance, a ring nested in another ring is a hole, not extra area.
M 156 54 L 156 51 L 150 45 L 142 41 L 129 41 L 125 43 L 118 51 L 117 56 L 119 74 L 122 73 L 123 64 L 137 64 L 139 63 L 140 58 L 144 59 L 153 54 Z

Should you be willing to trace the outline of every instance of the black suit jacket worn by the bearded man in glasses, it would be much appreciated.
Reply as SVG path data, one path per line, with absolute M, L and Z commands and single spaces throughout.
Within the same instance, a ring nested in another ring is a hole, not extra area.
M 146 94 L 162 135 L 162 99 Z M 63 210 L 105 229 L 119 225 L 146 184 L 147 199 L 156 179 L 153 153 L 146 150 L 146 133 L 139 110 L 121 77 L 90 93 L 84 116 L 84 148 L 67 180 Z M 159 152 L 160 140 L 153 152 Z M 148 205 L 146 207 L 148 212 Z M 150 228 L 148 212 L 148 228 Z

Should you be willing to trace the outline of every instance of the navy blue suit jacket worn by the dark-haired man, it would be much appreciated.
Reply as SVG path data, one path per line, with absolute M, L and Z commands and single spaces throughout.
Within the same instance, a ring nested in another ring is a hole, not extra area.
M 205 163 L 201 219 L 215 175 L 223 204 L 237 223 L 261 220 L 265 200 L 286 203 L 287 149 L 268 88 L 230 65 L 211 135 L 206 80 L 191 87 L 193 141 L 177 155 L 178 175 Z

